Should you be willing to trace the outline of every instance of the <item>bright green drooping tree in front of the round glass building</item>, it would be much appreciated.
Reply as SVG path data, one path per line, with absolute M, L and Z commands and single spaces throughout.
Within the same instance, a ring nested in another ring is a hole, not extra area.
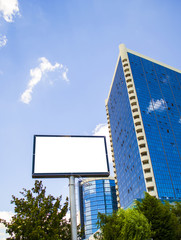
M 98 214 L 100 233 L 95 237 L 100 240 L 148 240 L 151 235 L 146 217 L 136 209 L 120 209 L 112 215 Z

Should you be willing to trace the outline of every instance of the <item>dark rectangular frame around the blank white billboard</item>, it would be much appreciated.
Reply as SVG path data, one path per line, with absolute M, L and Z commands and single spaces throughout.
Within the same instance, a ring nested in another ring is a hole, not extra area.
M 103 138 L 105 146 L 105 158 L 107 165 L 107 172 L 59 172 L 59 173 L 35 173 L 35 153 L 36 153 L 36 138 L 37 137 L 78 137 L 78 138 Z M 32 178 L 69 178 L 74 177 L 108 177 L 110 175 L 106 137 L 105 136 L 86 136 L 86 135 L 34 135 L 33 140 L 33 164 L 32 164 Z

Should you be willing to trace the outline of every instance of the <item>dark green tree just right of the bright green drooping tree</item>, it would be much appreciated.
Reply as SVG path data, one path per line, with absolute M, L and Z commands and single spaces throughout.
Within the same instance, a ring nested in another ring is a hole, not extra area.
M 136 201 L 136 209 L 151 223 L 153 240 L 177 239 L 175 215 L 159 199 L 145 193 L 145 198 L 141 202 Z

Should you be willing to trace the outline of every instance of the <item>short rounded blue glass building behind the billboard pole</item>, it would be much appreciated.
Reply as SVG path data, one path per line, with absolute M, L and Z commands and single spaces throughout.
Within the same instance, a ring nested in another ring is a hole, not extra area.
M 80 222 L 84 238 L 88 239 L 97 228 L 97 214 L 111 214 L 117 210 L 114 178 L 90 178 L 79 181 Z

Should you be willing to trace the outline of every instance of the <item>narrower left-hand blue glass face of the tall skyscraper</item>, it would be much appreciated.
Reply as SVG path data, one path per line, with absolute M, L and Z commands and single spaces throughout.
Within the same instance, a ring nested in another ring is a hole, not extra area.
M 146 186 L 121 60 L 109 96 L 108 109 L 120 204 L 127 207 L 133 199 L 144 196 Z

